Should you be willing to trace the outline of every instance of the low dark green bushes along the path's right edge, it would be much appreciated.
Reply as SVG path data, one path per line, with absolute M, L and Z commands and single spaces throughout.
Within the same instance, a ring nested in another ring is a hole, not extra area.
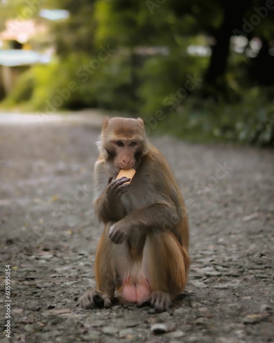
M 251 88 L 235 104 L 192 97 L 181 110 L 165 112 L 158 130 L 189 141 L 273 145 L 273 102 L 262 91 L 269 89 Z

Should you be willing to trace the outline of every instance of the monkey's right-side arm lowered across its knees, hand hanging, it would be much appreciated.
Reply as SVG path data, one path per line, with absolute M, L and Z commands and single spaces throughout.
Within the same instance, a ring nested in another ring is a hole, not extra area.
M 154 148 L 153 148 L 154 149 Z M 146 156 L 139 170 L 140 187 L 135 189 L 136 198 L 147 200 L 110 228 L 110 239 L 118 244 L 138 228 L 141 234 L 173 231 L 183 219 L 183 204 L 173 174 L 156 149 Z M 140 203 L 141 204 L 141 203 Z M 137 205 L 138 206 L 138 205 Z

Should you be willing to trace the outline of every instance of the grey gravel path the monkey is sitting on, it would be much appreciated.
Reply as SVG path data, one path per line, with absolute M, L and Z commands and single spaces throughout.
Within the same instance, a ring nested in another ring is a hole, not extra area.
M 131 304 L 76 306 L 95 285 L 100 125 L 97 115 L 25 125 L 0 116 L 3 330 L 11 307 L 11 338 L 3 331 L 1 342 L 274 342 L 273 150 L 151 139 L 188 204 L 186 291 L 162 314 Z M 12 302 L 5 301 L 5 265 Z

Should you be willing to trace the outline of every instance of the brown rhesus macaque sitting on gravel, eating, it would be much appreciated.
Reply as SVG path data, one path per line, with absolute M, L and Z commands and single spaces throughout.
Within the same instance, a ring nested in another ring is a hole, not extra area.
M 164 156 L 147 142 L 142 119 L 105 119 L 98 145 L 95 212 L 105 228 L 95 258 L 97 288 L 79 303 L 110 307 L 116 292 L 165 311 L 186 286 L 190 265 L 182 194 Z M 116 179 L 130 168 L 136 169 L 130 183 Z

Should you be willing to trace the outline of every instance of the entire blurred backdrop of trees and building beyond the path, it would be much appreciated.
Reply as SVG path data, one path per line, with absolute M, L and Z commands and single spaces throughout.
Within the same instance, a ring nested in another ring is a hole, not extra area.
M 274 1 L 0 0 L 0 110 L 87 108 L 274 145 Z

